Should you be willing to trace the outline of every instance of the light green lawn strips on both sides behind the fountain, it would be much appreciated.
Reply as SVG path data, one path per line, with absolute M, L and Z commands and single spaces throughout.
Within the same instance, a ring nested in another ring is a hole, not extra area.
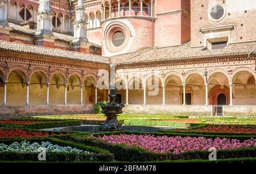
M 104 114 L 74 114 L 74 115 L 42 115 L 26 118 L 38 119 L 84 119 L 89 121 L 105 121 Z M 208 123 L 208 124 L 225 124 L 225 125 L 256 125 L 256 117 L 237 118 L 237 117 L 193 117 L 188 115 L 162 115 L 162 114 L 120 114 L 119 121 L 125 125 L 141 126 L 173 126 L 183 125 L 186 123 Z M 187 121 L 186 121 L 187 120 Z M 197 121 L 195 121 L 197 120 Z M 191 121 L 191 122 L 189 122 Z M 176 122 L 176 123 L 175 123 Z M 177 123 L 178 122 L 178 123 Z M 184 126 L 188 127 L 188 126 Z

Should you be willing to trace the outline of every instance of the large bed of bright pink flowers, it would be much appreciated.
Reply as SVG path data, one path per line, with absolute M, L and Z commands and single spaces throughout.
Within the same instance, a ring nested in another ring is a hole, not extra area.
M 237 139 L 227 138 L 204 138 L 201 137 L 181 137 L 181 136 L 155 136 L 150 134 L 145 135 L 104 135 L 104 136 L 89 136 L 89 138 L 97 138 L 110 143 L 127 144 L 129 146 L 138 146 L 146 150 L 156 153 L 180 154 L 186 151 L 208 150 L 210 147 L 216 147 L 218 150 L 232 150 L 241 147 L 255 147 L 256 139 L 247 139 L 243 142 Z

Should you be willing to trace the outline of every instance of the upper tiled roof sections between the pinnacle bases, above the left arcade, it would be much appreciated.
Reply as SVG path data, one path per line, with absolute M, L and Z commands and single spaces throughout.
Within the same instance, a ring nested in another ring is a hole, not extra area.
M 36 30 L 32 30 L 30 28 L 26 28 L 23 26 L 19 26 L 18 24 L 14 24 L 9 22 L 9 27 L 13 28 L 13 31 L 20 32 L 22 34 L 28 34 L 28 35 L 34 35 Z M 53 36 L 56 36 L 57 39 L 64 41 L 64 42 L 71 42 L 73 40 L 73 36 L 67 35 L 67 34 L 61 34 L 59 32 L 52 32 Z M 101 47 L 101 45 L 98 45 L 96 43 L 90 42 L 90 44 L 95 45 L 97 47 Z

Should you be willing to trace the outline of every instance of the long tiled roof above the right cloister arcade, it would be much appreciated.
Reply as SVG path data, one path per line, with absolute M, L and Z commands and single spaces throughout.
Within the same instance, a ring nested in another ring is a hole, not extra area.
M 110 62 L 125 65 L 207 57 L 239 56 L 247 55 L 255 47 L 256 42 L 244 42 L 229 44 L 223 49 L 205 50 L 204 47 L 191 48 L 191 42 L 188 42 L 176 47 L 144 49 L 144 51 L 113 56 L 110 57 Z

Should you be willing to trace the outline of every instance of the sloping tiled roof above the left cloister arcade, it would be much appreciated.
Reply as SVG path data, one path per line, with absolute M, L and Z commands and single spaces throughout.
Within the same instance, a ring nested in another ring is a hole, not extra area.
M 51 57 L 60 57 L 71 60 L 88 61 L 92 63 L 109 64 L 109 59 L 104 56 L 91 55 L 74 51 L 66 51 L 64 49 L 47 48 L 35 45 L 27 45 L 20 43 L 12 43 L 0 40 L 0 50 L 29 53 L 34 55 L 43 55 Z

